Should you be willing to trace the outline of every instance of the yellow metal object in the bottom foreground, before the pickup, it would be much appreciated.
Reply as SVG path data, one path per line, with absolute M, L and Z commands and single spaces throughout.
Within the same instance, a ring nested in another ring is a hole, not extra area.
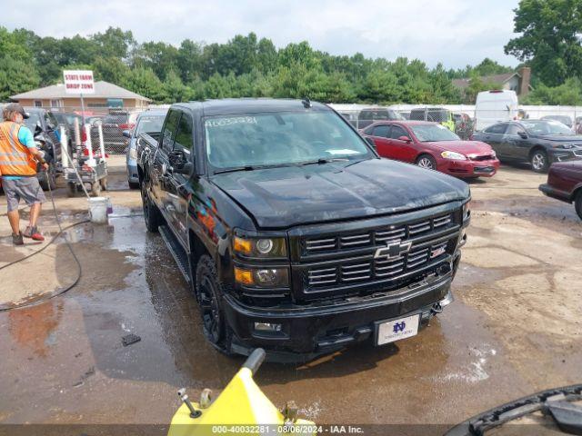
M 253 380 L 253 372 L 246 367 L 236 373 L 216 401 L 206 409 L 201 409 L 196 402 L 192 405 L 202 414 L 193 419 L 186 404 L 182 404 L 172 419 L 168 436 L 316 433 L 315 424 L 304 420 L 294 421 L 294 431 L 286 431 L 286 417 L 266 398 Z

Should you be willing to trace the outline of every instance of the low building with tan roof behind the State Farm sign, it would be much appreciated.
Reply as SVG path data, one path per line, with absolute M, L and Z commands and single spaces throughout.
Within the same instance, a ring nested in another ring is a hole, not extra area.
M 25 107 L 46 108 L 80 108 L 81 97 L 75 94 L 66 94 L 64 84 L 53 84 L 44 88 L 34 89 L 22 94 L 15 94 L 11 100 Z M 95 82 L 95 94 L 83 95 L 85 110 L 125 108 L 127 110 L 142 111 L 147 108 L 151 100 L 143 95 L 132 93 L 121 86 L 108 82 Z

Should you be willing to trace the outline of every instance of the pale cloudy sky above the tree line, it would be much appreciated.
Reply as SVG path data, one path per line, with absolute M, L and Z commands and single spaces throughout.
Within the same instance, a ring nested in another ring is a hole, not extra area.
M 91 35 L 108 26 L 140 42 L 226 43 L 234 35 L 269 38 L 277 47 L 307 41 L 330 54 L 418 58 L 447 68 L 485 57 L 517 65 L 503 53 L 517 0 L 21 0 L 1 4 L 0 25 L 41 36 Z M 47 6 L 50 5 L 50 6 Z

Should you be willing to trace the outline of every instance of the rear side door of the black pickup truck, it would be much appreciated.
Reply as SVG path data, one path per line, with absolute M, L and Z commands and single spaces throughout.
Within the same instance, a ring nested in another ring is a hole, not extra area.
M 170 173 L 170 161 L 168 154 L 174 150 L 176 140 L 176 129 L 180 121 L 180 112 L 170 110 L 166 116 L 164 128 L 160 134 L 160 144 L 156 152 L 154 171 L 152 172 L 152 193 L 157 203 L 157 207 L 162 211 L 166 221 L 171 226 L 171 219 L 166 210 L 167 186 L 172 178 Z

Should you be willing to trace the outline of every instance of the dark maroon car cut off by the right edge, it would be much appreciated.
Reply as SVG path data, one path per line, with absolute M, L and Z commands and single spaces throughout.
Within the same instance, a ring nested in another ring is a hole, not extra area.
M 582 220 L 582 161 L 553 163 L 547 173 L 547 183 L 540 184 L 539 190 L 548 197 L 574 203 Z

